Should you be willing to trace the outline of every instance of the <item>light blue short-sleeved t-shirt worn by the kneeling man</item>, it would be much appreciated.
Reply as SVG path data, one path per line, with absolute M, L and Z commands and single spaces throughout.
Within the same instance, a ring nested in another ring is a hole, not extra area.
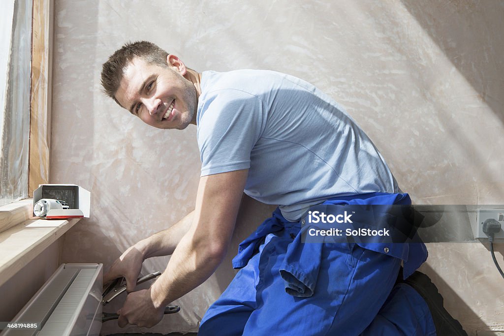
M 313 85 L 272 71 L 207 71 L 201 91 L 201 176 L 248 168 L 244 192 L 287 220 L 330 197 L 399 191 L 365 133 Z

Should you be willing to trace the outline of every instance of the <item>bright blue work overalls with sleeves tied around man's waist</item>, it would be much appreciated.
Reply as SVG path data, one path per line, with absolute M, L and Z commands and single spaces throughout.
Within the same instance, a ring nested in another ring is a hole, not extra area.
M 409 205 L 408 194 L 335 197 L 330 205 Z M 394 287 L 427 258 L 423 243 L 302 243 L 277 209 L 233 259 L 241 268 L 210 306 L 199 335 L 435 335 L 427 304 Z

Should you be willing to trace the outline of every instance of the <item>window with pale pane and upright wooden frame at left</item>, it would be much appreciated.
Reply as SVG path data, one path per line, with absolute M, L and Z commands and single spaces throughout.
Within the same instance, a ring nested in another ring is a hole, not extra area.
M 2 3 L 0 207 L 48 183 L 52 11 L 53 0 Z

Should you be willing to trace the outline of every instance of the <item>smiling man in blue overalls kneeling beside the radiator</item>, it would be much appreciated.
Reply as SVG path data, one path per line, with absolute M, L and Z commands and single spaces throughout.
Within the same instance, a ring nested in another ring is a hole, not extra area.
M 312 205 L 410 203 L 330 97 L 275 72 L 200 74 L 145 41 L 109 57 L 102 85 L 151 126 L 196 125 L 202 160 L 194 215 L 130 247 L 105 275 L 105 283 L 128 283 L 119 326 L 158 323 L 166 305 L 212 275 L 245 192 L 280 206 L 240 244 L 233 266 L 242 269 L 207 311 L 201 335 L 435 333 L 422 297 L 405 283 L 394 287 L 401 261 L 406 278 L 426 259 L 423 244 L 300 242 Z M 143 260 L 169 254 L 159 279 L 133 292 Z

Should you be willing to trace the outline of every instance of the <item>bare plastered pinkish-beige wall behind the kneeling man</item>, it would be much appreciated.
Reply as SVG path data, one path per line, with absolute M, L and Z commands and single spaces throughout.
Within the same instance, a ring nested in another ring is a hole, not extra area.
M 54 17 L 50 181 L 92 192 L 92 217 L 68 233 L 64 262 L 108 266 L 194 206 L 196 128 L 151 129 L 100 92 L 101 63 L 129 40 L 156 42 L 198 71 L 272 69 L 313 83 L 345 106 L 417 204 L 504 203 L 502 2 L 57 0 Z M 255 215 L 241 235 L 261 217 L 246 209 Z M 422 270 L 466 330 L 504 329 L 486 246 L 428 247 Z M 228 258 L 152 331 L 194 330 L 229 268 Z

